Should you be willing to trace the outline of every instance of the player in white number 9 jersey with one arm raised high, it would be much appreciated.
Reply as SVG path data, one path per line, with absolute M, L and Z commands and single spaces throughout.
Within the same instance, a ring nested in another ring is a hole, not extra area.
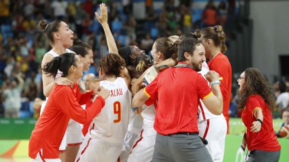
M 105 31 L 110 54 L 101 59 L 101 81 L 92 86 L 103 86 L 111 91 L 111 95 L 105 100 L 106 105 L 101 113 L 92 120 L 77 161 L 116 161 L 122 149 L 131 110 L 130 77 L 107 24 L 105 4 L 100 5 L 100 10 L 101 16 L 96 13 L 96 17 Z

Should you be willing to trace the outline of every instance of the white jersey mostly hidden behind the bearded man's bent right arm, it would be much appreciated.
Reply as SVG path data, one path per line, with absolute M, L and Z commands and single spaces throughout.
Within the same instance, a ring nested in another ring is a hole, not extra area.
M 199 71 L 198 73 L 202 74 L 202 76 L 204 77 L 204 75 L 210 71 L 208 65 L 206 62 L 202 63 L 202 70 Z M 210 83 L 208 82 L 208 85 Z M 223 116 L 223 114 L 221 115 L 214 115 L 212 114 L 207 107 L 204 105 L 204 103 L 202 102 L 202 100 L 200 99 L 200 104 L 198 106 L 198 122 L 206 120 L 206 119 L 211 119 L 211 118 L 215 118 L 215 117 L 221 117 Z

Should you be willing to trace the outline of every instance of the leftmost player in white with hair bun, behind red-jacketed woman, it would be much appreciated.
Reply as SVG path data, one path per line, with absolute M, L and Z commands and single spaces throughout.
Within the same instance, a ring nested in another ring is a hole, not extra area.
M 73 46 L 74 32 L 69 29 L 66 23 L 55 20 L 48 24 L 45 20 L 42 20 L 39 22 L 38 28 L 43 30 L 43 34 L 45 35 L 50 46 L 52 47 L 52 49 L 48 51 L 42 59 L 41 63 L 42 68 L 47 62 L 51 61 L 54 57 L 57 57 L 67 52 L 74 53 L 73 51 L 67 49 Z M 51 76 L 49 77 L 42 71 L 43 93 L 46 96 L 46 101 L 55 82 L 59 85 L 70 85 L 72 83 L 68 79 L 60 77 L 61 75 L 62 73 L 58 71 L 54 80 Z M 40 114 L 42 114 L 44 110 L 46 101 L 44 101 L 41 105 Z M 64 160 L 65 158 L 63 152 L 65 151 L 66 148 L 66 133 L 63 136 L 63 141 L 65 142 L 64 143 L 62 142 L 62 144 L 59 147 L 59 157 L 61 160 Z

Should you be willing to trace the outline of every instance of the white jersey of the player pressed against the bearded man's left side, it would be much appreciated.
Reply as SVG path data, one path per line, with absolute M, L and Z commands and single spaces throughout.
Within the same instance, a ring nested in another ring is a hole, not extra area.
M 156 135 L 157 131 L 154 128 L 156 116 L 155 104 L 151 104 L 150 106 L 143 104 L 141 108 L 142 108 L 141 116 L 143 117 L 142 136 L 144 137 Z

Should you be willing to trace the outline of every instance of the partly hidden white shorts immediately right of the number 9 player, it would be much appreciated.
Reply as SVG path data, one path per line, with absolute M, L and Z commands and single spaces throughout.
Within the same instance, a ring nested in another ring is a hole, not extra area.
M 139 139 L 139 135 L 127 131 L 123 140 L 123 146 L 121 153 L 119 155 L 119 160 L 121 162 L 126 162 L 128 155 L 132 149 L 133 144 Z

